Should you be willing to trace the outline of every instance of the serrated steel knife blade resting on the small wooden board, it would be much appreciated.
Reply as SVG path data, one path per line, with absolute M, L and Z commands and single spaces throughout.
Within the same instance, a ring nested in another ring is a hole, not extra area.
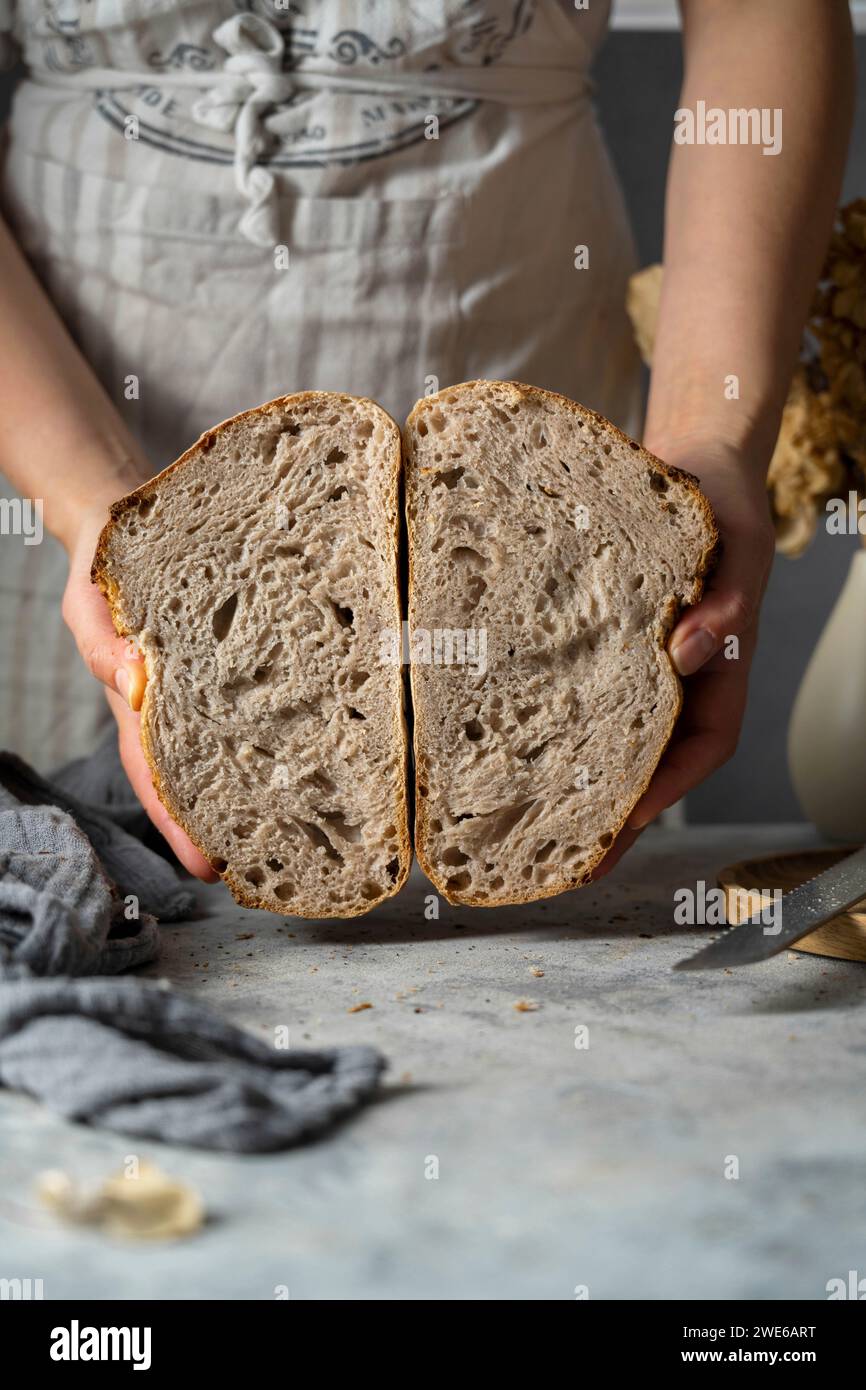
M 752 888 L 752 892 L 758 890 Z M 816 878 L 801 883 L 781 899 L 781 924 L 769 926 L 763 909 L 741 922 L 696 955 L 678 960 L 674 970 L 721 970 L 769 960 L 824 922 L 838 917 L 866 898 L 866 845 Z

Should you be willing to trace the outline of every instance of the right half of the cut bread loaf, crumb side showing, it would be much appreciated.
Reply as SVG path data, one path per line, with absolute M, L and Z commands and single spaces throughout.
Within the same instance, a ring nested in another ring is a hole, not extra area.
M 517 382 L 420 400 L 405 455 L 418 862 L 450 902 L 578 887 L 680 712 L 666 638 L 701 595 L 710 506 Z

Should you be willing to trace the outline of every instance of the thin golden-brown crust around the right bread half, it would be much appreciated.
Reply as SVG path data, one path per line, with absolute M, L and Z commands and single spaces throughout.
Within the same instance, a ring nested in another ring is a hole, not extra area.
M 556 391 L 546 391 L 542 386 L 530 386 L 521 381 L 488 381 L 485 378 L 478 378 L 477 381 L 463 381 L 459 385 L 446 386 L 442 391 L 438 391 L 432 396 L 423 396 L 420 400 L 416 402 L 416 404 L 410 410 L 409 417 L 406 420 L 406 425 L 403 428 L 403 459 L 405 459 L 403 468 L 406 478 L 406 528 L 409 534 L 409 610 L 411 612 L 411 595 L 414 592 L 413 562 L 414 562 L 416 528 L 413 518 L 413 510 L 414 510 L 413 503 L 414 503 L 414 491 L 417 482 L 416 467 L 414 467 L 414 452 L 413 452 L 413 431 L 421 414 L 424 414 L 424 411 L 428 410 L 431 406 L 436 403 L 448 404 L 446 398 L 449 396 L 453 398 L 455 393 L 457 392 L 468 393 L 471 391 L 475 391 L 477 388 L 485 388 L 485 386 L 507 388 L 507 391 L 512 395 L 512 399 L 535 400 L 535 402 L 550 400 L 560 407 L 566 407 L 582 421 L 591 423 L 598 428 L 603 430 L 603 432 L 609 438 L 616 439 L 619 443 L 627 445 L 630 449 L 635 452 L 635 455 L 638 456 L 638 459 L 641 459 L 641 461 L 649 464 L 653 470 L 662 473 L 664 477 L 673 480 L 674 482 L 681 484 L 688 489 L 688 492 L 694 496 L 695 502 L 701 509 L 709 534 L 708 545 L 701 556 L 698 570 L 695 573 L 694 603 L 698 603 L 703 594 L 706 580 L 710 575 L 714 564 L 717 563 L 721 546 L 719 537 L 719 527 L 716 524 L 716 517 L 713 516 L 713 509 L 708 498 L 701 491 L 698 478 L 695 478 L 694 474 L 691 473 L 685 473 L 683 468 L 671 467 L 670 464 L 664 463 L 663 459 L 657 459 L 648 449 L 644 449 L 644 446 L 639 445 L 635 439 L 631 439 L 627 434 L 623 434 L 623 431 L 619 430 L 609 420 L 606 420 L 605 416 L 599 416 L 598 411 L 589 410 L 587 406 L 580 406 L 575 400 L 571 400 L 569 396 L 562 396 Z M 669 613 L 664 614 L 666 638 L 667 635 L 670 635 L 670 631 L 678 617 L 678 612 L 680 612 L 678 606 L 674 606 Z M 655 776 L 656 767 L 659 766 L 659 762 L 662 760 L 667 749 L 667 745 L 670 744 L 670 738 L 673 735 L 677 719 L 680 717 L 680 712 L 683 709 L 683 681 L 680 680 L 677 669 L 670 657 L 670 652 L 667 649 L 667 639 L 660 645 L 660 651 L 664 653 L 664 657 L 670 669 L 670 676 L 673 678 L 673 688 L 677 696 L 676 708 L 673 710 L 667 733 L 664 734 L 664 738 L 659 746 L 659 756 L 656 758 L 656 762 L 651 773 L 639 784 L 638 790 L 635 791 L 634 796 L 630 799 L 627 805 L 626 813 L 620 817 L 619 824 L 616 824 L 616 828 L 613 828 L 613 842 L 616 842 L 616 838 L 624 828 L 631 812 L 634 810 L 641 796 L 649 787 L 649 783 Z M 414 682 L 414 670 L 411 666 L 409 678 L 410 678 L 411 692 L 414 696 L 416 682 Z M 423 746 L 423 724 L 421 720 L 418 719 L 418 710 L 417 705 L 414 705 L 414 699 L 413 699 L 413 710 L 414 710 L 413 748 L 414 748 L 414 764 L 416 764 L 414 852 L 418 865 L 421 866 L 427 877 L 431 880 L 436 891 L 442 894 L 446 902 L 470 908 L 505 908 L 523 902 L 537 902 L 541 898 L 555 898 L 560 892 L 569 892 L 570 890 L 580 888 L 591 881 L 592 872 L 598 869 L 602 859 L 605 859 L 605 856 L 609 853 L 609 847 L 601 848 L 588 862 L 587 867 L 580 876 L 569 878 L 557 878 L 550 884 L 545 884 L 544 887 L 537 885 L 530 891 L 516 891 L 510 894 L 503 894 L 496 898 L 478 898 L 471 892 L 461 894 L 449 891 L 445 883 L 446 876 L 439 870 L 436 865 L 431 863 L 424 848 L 427 840 L 427 823 L 430 816 L 427 808 L 427 798 L 421 794 L 421 787 L 424 787 L 427 783 L 428 762 Z

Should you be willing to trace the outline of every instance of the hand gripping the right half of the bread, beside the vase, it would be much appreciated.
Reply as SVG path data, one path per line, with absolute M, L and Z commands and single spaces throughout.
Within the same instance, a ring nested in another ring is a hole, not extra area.
M 721 553 L 699 603 L 685 610 L 667 649 L 684 677 L 683 712 L 653 778 L 595 869 L 603 878 L 651 820 L 733 756 L 746 703 L 760 603 L 773 564 L 774 534 L 762 470 L 733 452 L 652 452 L 695 474 L 709 498 Z M 735 656 L 726 655 L 737 638 Z

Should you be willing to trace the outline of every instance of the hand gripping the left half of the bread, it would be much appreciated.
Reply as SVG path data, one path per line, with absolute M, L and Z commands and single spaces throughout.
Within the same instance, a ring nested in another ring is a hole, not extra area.
M 139 710 L 145 696 L 145 664 L 133 644 L 114 631 L 108 603 L 90 582 L 93 552 L 106 520 L 107 506 L 95 506 L 82 516 L 68 543 L 70 577 L 63 596 L 63 616 L 85 666 L 106 685 L 108 705 L 117 720 L 121 762 L 132 790 L 183 867 L 196 878 L 213 883 L 217 874 L 186 831 L 171 819 L 154 791 L 140 744 Z

